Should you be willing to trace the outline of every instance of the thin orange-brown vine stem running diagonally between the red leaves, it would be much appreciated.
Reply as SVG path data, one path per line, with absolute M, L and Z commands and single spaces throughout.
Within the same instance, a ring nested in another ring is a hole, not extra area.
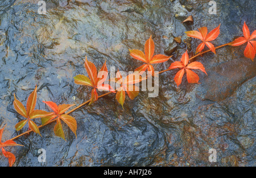
M 231 43 L 222 44 L 222 45 L 219 45 L 219 46 L 215 47 L 215 49 L 221 48 L 221 47 L 224 47 L 224 46 L 230 45 L 230 44 L 231 44 Z M 198 53 L 197 55 L 195 55 L 195 56 L 189 58 L 188 60 L 192 60 L 192 59 L 194 59 L 195 57 L 200 56 L 200 55 L 203 55 L 204 53 L 207 53 L 207 52 L 210 52 L 210 51 L 211 51 L 211 50 L 209 49 L 209 50 L 207 50 L 207 51 L 200 52 L 200 53 Z M 166 69 L 166 70 L 160 71 L 160 72 L 158 72 L 158 73 L 156 73 L 156 74 L 163 73 L 163 72 L 167 72 L 167 71 L 170 71 L 170 70 L 172 70 L 172 69 Z M 115 91 L 116 91 L 116 90 L 115 90 Z M 104 96 L 109 95 L 109 94 L 111 94 L 111 93 L 113 93 L 113 92 L 108 92 L 108 93 L 102 94 L 102 95 L 98 96 L 98 98 L 104 97 Z M 85 102 L 82 103 L 81 105 L 75 107 L 74 109 L 68 111 L 68 113 L 65 113 L 65 114 L 71 114 L 71 113 L 73 113 L 73 111 L 76 111 L 77 109 L 80 109 L 82 106 L 88 104 L 89 102 L 90 102 L 90 100 L 85 101 Z M 41 127 L 43 127 L 43 126 L 46 126 L 46 125 L 48 125 L 49 123 L 55 122 L 56 120 L 57 120 L 57 119 L 52 119 L 52 121 L 47 122 L 45 125 L 40 125 L 40 126 L 38 126 L 38 128 L 41 128 Z M 11 138 L 10 140 L 15 140 L 15 139 L 19 138 L 20 136 L 26 135 L 26 134 L 31 133 L 31 132 L 32 132 L 32 130 L 28 130 L 28 131 L 26 131 L 26 132 L 24 132 L 24 133 L 22 133 L 22 134 L 19 134 L 19 135 L 15 136 L 14 138 Z

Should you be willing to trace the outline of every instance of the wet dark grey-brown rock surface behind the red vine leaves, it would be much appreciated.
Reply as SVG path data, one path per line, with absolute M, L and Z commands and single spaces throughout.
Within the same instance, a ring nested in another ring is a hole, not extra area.
M 144 50 L 152 35 L 155 54 L 164 53 L 181 36 L 171 60 L 155 64 L 167 69 L 188 49 L 195 53 L 199 40 L 184 32 L 221 23 L 214 45 L 242 36 L 246 21 L 255 30 L 253 1 L 218 1 L 210 15 L 209 1 L 46 1 L 46 15 L 38 14 L 38 1 L 0 4 L 0 125 L 7 124 L 3 140 L 21 133 L 15 124 L 23 118 L 13 107 L 14 93 L 24 105 L 38 86 L 37 109 L 42 101 L 76 104 L 89 100 L 90 88 L 76 85 L 73 77 L 85 74 L 84 59 L 100 68 L 105 60 L 116 71 L 133 71 L 141 65 L 129 49 Z M 193 15 L 193 24 L 181 23 Z M 163 38 L 167 36 L 168 38 Z M 175 42 L 176 43 L 176 42 Z M 243 57 L 245 45 L 217 49 L 196 58 L 208 73 L 197 72 L 201 84 L 184 80 L 177 89 L 177 70 L 159 76 L 159 96 L 140 92 L 124 109 L 114 95 L 72 113 L 77 138 L 63 125 L 67 142 L 53 133 L 54 124 L 40 135 L 22 136 L 25 147 L 8 147 L 14 166 L 255 166 L 255 61 Z M 104 92 L 102 92 L 104 93 Z M 39 119 L 35 120 L 40 125 Z M 26 131 L 27 128 L 22 130 Z M 46 150 L 46 163 L 38 150 Z M 209 150 L 217 151 L 210 163 Z M 0 165 L 8 160 L 1 154 Z

